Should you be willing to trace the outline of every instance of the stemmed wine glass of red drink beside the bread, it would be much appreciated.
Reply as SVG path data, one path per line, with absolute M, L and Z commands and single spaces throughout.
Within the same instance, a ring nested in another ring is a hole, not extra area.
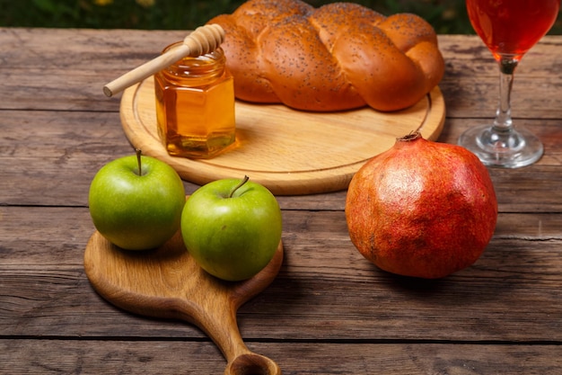
M 510 103 L 514 70 L 556 21 L 560 0 L 466 0 L 466 4 L 472 27 L 499 65 L 500 95 L 493 124 L 465 131 L 459 144 L 485 165 L 531 165 L 544 148 L 531 132 L 514 128 Z

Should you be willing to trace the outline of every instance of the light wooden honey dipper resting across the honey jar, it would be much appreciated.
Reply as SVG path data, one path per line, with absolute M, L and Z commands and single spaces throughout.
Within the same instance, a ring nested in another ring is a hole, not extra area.
M 191 32 L 175 49 L 170 49 L 157 58 L 145 62 L 140 67 L 127 72 L 123 76 L 103 86 L 103 93 L 107 96 L 118 94 L 130 85 L 154 75 L 165 67 L 170 67 L 181 58 L 197 58 L 212 52 L 224 41 L 224 29 L 221 25 L 213 23 L 200 26 Z

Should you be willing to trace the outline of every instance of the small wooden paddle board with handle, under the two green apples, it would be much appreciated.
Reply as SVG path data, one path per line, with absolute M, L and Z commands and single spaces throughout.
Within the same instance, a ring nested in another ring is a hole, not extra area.
M 84 252 L 92 287 L 113 305 L 148 317 L 183 319 L 201 328 L 227 361 L 226 375 L 280 375 L 276 362 L 250 352 L 236 322 L 238 308 L 273 281 L 283 263 L 283 245 L 270 263 L 246 281 L 222 281 L 203 271 L 183 244 L 180 231 L 158 249 L 127 251 L 94 232 Z

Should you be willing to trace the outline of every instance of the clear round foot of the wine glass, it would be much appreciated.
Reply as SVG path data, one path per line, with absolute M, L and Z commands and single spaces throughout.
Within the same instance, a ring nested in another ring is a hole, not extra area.
M 525 129 L 495 131 L 490 125 L 466 130 L 459 145 L 468 148 L 484 165 L 519 168 L 531 165 L 544 152 L 540 139 Z

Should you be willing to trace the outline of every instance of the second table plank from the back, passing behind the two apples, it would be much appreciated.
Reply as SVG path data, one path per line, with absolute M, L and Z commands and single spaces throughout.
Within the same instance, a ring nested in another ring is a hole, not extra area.
M 0 204 L 85 206 L 102 165 L 132 154 L 114 113 L 4 111 L 0 138 Z M 37 119 L 41 119 L 41 123 Z M 454 143 L 482 121 L 448 119 L 439 141 Z M 524 123 L 544 140 L 546 155 L 518 170 L 490 169 L 502 211 L 562 211 L 562 133 L 559 121 Z M 17 162 L 14 163 L 14 160 Z M 186 183 L 188 193 L 198 185 Z M 279 197 L 285 209 L 343 210 L 345 192 Z

